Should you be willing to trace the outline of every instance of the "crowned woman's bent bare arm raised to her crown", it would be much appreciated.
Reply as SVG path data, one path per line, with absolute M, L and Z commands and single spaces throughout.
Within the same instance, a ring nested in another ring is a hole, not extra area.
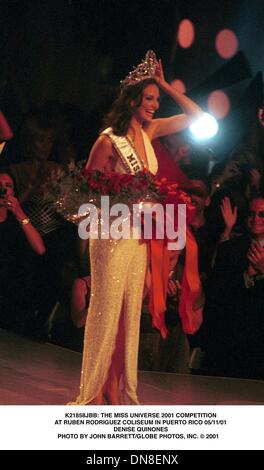
M 161 61 L 159 61 L 159 65 L 159 70 L 155 76 L 159 87 L 182 108 L 184 114 L 178 114 L 169 118 L 153 119 L 147 129 L 152 139 L 182 131 L 203 113 L 202 109 L 194 101 L 175 90 L 166 82 Z

